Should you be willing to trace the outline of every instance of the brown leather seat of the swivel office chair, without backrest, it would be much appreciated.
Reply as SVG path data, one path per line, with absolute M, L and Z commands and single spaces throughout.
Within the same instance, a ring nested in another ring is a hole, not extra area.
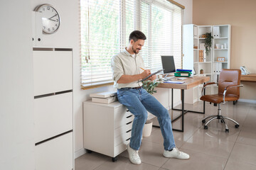
M 238 96 L 228 94 L 225 96 L 225 101 L 238 101 Z M 201 96 L 200 100 L 208 101 L 211 103 L 222 103 L 223 102 L 223 94 L 210 94 Z

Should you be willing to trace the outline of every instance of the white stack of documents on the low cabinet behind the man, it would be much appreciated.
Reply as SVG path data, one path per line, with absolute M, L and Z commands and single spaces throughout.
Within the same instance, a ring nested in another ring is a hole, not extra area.
M 97 94 L 90 94 L 90 97 L 92 97 L 92 102 L 108 104 L 117 101 L 117 92 L 103 91 Z

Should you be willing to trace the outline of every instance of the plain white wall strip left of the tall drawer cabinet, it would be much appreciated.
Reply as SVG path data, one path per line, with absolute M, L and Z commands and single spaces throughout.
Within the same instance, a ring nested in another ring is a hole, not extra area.
M 35 169 L 30 8 L 30 0 L 1 0 L 0 169 Z

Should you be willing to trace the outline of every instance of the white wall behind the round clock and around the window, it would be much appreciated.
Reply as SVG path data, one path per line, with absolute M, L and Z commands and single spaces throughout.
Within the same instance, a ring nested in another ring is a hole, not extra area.
M 184 0 L 186 4 L 190 4 L 189 0 Z M 83 149 L 83 135 L 82 135 L 82 102 L 90 99 L 91 93 L 97 91 L 110 91 L 114 90 L 112 86 L 100 87 L 97 89 L 81 90 L 80 89 L 80 29 L 79 29 L 79 1 L 69 0 L 33 0 L 31 10 L 39 4 L 51 4 L 60 13 L 61 25 L 60 30 L 53 35 L 43 35 L 42 46 L 46 47 L 72 47 L 73 48 L 73 111 L 74 111 L 74 133 L 75 133 L 75 157 L 85 153 Z M 182 4 L 182 2 L 179 2 Z M 183 4 L 184 5 L 184 4 Z M 191 9 L 191 8 L 190 8 Z M 186 9 L 187 10 L 187 9 Z M 184 21 L 188 19 L 191 21 L 192 11 L 184 13 Z M 156 98 L 159 98 L 161 103 L 165 107 L 170 105 L 170 92 L 168 89 L 159 89 L 159 94 L 156 94 Z M 179 94 L 179 92 L 177 92 Z M 179 95 L 178 95 L 179 96 Z M 176 101 L 179 100 L 177 97 Z

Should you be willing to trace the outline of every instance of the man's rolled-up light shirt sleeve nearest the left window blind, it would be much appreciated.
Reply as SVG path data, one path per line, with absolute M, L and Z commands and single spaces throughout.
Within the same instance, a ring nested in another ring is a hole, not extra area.
M 120 60 L 118 55 L 115 55 L 114 57 L 112 57 L 111 68 L 113 72 L 112 79 L 117 82 L 120 79 L 120 77 L 124 75 L 124 68 L 122 67 L 122 61 Z

